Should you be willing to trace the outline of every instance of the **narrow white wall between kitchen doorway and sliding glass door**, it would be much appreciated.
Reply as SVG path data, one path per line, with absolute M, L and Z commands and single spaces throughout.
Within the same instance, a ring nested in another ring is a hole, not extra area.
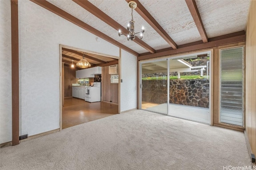
M 137 57 L 121 51 L 121 112 L 137 108 Z

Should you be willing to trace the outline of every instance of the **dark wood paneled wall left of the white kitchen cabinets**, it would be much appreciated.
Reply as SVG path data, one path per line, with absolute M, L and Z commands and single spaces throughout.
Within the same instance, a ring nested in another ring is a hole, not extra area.
M 72 83 L 77 83 L 76 68 L 64 65 L 64 97 L 72 97 Z

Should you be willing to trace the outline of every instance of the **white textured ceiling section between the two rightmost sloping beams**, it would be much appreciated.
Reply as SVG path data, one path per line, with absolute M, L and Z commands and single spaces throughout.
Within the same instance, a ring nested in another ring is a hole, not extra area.
M 201 40 L 185 0 L 140 0 L 177 45 Z

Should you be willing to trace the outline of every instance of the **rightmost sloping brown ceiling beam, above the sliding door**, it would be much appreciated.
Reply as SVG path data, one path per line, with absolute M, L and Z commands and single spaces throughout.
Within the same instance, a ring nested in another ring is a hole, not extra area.
M 201 20 L 200 14 L 198 12 L 198 8 L 196 6 L 196 1 L 195 0 L 185 0 L 186 4 L 188 6 L 188 9 L 194 19 L 194 22 L 196 23 L 196 27 L 200 33 L 200 36 L 203 40 L 204 43 L 208 42 L 208 37 L 206 34 L 206 31 L 204 29 L 204 24 Z

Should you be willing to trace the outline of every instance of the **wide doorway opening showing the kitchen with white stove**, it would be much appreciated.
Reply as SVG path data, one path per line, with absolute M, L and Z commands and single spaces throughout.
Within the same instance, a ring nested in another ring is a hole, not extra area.
M 83 57 L 90 63 L 90 67 L 82 69 L 76 66 Z M 60 63 L 60 129 L 120 112 L 120 84 L 111 84 L 108 74 L 108 67 L 118 64 L 119 57 L 60 45 Z M 93 100 L 86 100 L 88 94 Z

